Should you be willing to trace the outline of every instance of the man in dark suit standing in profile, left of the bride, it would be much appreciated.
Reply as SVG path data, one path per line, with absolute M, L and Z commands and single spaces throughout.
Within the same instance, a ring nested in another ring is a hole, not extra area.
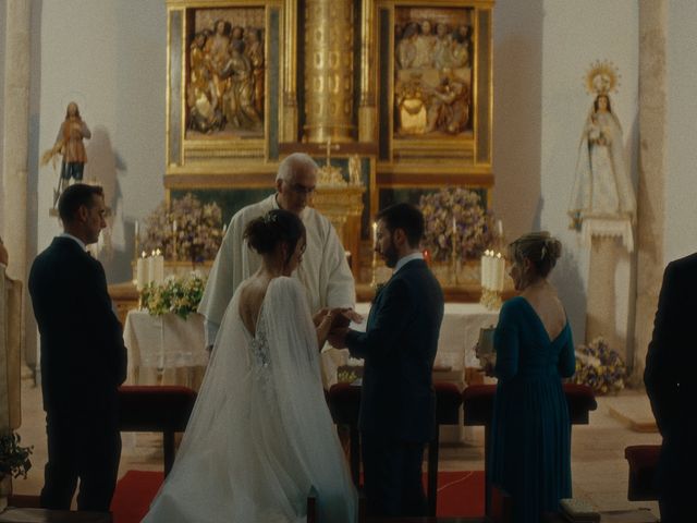
M 106 227 L 101 187 L 76 183 L 60 197 L 64 233 L 40 253 L 29 293 L 41 336 L 48 463 L 41 507 L 108 511 L 121 458 L 117 389 L 126 350 L 105 270 L 85 252 Z

